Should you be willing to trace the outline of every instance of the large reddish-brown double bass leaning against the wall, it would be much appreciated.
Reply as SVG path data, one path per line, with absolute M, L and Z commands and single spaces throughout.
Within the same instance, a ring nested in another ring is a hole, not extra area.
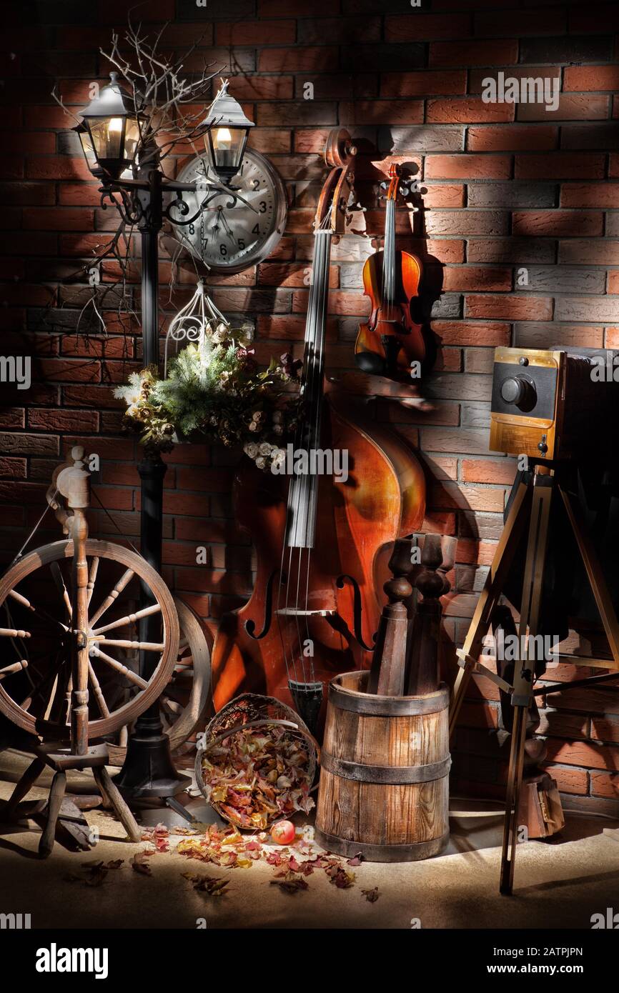
M 404 443 L 378 424 L 363 424 L 350 399 L 325 391 L 331 243 L 342 226 L 354 151 L 346 131 L 330 133 L 294 442 L 310 467 L 318 450 L 346 452 L 347 478 L 283 477 L 241 460 L 234 504 L 255 547 L 255 585 L 249 602 L 222 619 L 212 657 L 217 710 L 241 692 L 266 694 L 292 704 L 312 731 L 324 683 L 369 667 L 382 609 L 379 553 L 418 529 L 425 508 L 423 473 Z

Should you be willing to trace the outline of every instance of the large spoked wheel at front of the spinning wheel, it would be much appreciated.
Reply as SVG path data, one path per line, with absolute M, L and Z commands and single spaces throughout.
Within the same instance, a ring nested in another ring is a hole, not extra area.
M 160 695 L 178 659 L 178 617 L 158 573 L 121 545 L 86 539 L 84 548 L 87 622 L 79 631 L 72 626 L 73 541 L 30 552 L 0 579 L 0 711 L 47 740 L 70 738 L 76 644 L 88 649 L 88 740 L 134 721 Z M 140 610 L 142 591 L 152 604 Z M 143 617 L 151 618 L 156 640 L 139 640 Z M 140 651 L 148 678 L 137 669 Z

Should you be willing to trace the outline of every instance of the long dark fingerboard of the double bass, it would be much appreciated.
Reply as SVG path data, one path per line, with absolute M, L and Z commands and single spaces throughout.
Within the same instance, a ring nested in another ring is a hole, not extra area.
M 314 261 L 301 379 L 302 412 L 295 438 L 295 450 L 308 453 L 320 447 L 331 236 L 331 228 L 320 227 L 314 231 Z M 314 547 L 317 500 L 316 475 L 307 473 L 292 477 L 288 489 L 286 520 L 288 548 Z

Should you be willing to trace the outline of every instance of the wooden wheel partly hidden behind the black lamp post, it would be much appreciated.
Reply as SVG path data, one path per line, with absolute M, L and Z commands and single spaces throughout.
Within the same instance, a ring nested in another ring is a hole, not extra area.
M 159 698 L 163 729 L 170 739 L 170 749 L 185 754 L 195 747 L 188 739 L 196 730 L 211 698 L 212 638 L 198 615 L 178 597 L 174 606 L 179 618 L 178 657 L 170 682 Z M 109 761 L 122 766 L 126 756 L 128 727 L 122 728 L 119 744 L 108 745 Z

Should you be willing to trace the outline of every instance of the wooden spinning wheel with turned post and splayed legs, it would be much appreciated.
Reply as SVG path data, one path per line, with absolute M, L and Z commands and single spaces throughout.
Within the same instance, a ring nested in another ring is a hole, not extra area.
M 46 766 L 54 770 L 39 845 L 43 857 L 52 851 L 63 810 L 77 844 L 89 847 L 64 799 L 71 769 L 92 770 L 129 837 L 139 840 L 135 818 L 105 768 L 106 746 L 89 743 L 118 731 L 153 703 L 178 658 L 179 622 L 170 591 L 137 552 L 88 538 L 89 475 L 83 449 L 71 455 L 55 471 L 47 495 L 68 540 L 18 556 L 0 579 L 0 625 L 6 624 L 0 627 L 0 712 L 33 736 L 35 756 L 4 814 L 18 814 Z M 145 606 L 135 610 L 140 598 Z M 135 637 L 134 626 L 146 617 L 158 622 L 151 641 Z M 137 671 L 138 653 L 152 659 L 144 674 Z

